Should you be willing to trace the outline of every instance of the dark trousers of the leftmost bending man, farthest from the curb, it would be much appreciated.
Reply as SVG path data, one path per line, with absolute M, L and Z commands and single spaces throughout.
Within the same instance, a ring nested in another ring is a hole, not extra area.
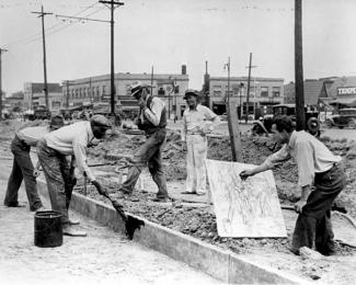
M 22 180 L 24 180 L 30 209 L 36 210 L 42 207 L 42 202 L 37 192 L 36 178 L 33 175 L 34 167 L 31 161 L 30 149 L 31 147 L 21 141 L 16 136 L 11 142 L 13 164 L 3 202 L 5 206 L 11 207 L 19 205 L 19 189 Z

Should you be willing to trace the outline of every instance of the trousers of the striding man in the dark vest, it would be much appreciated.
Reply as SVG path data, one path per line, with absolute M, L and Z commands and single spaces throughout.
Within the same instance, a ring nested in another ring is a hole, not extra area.
M 157 130 L 148 136 L 143 145 L 136 150 L 131 159 L 131 166 L 128 169 L 127 180 L 122 185 L 124 192 L 130 193 L 134 191 L 143 167 L 148 166 L 148 170 L 158 186 L 157 197 L 168 197 L 165 173 L 162 162 L 165 133 L 164 128 Z

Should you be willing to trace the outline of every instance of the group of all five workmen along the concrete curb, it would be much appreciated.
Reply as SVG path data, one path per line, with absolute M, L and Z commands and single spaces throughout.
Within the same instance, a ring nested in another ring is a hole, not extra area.
M 131 86 L 131 95 L 140 107 L 135 123 L 139 129 L 145 132 L 147 139 L 130 159 L 127 179 L 118 189 L 117 195 L 122 198 L 128 197 L 142 169 L 148 167 L 158 186 L 154 201 L 165 203 L 172 201 L 169 196 L 162 163 L 168 115 L 164 102 L 160 98 L 152 96 L 150 90 L 149 86 L 141 82 L 135 82 Z M 182 140 L 186 149 L 187 178 L 185 191 L 182 193 L 204 195 L 206 193 L 207 134 L 214 130 L 220 119 L 211 110 L 199 103 L 199 92 L 187 90 L 184 99 L 187 109 L 183 114 Z M 290 117 L 280 116 L 274 123 L 275 137 L 284 147 L 269 156 L 263 164 L 242 171 L 240 176 L 248 179 L 292 157 L 298 166 L 301 197 L 296 203 L 299 216 L 292 235 L 291 251 L 298 254 L 301 247 L 308 247 L 325 255 L 332 254 L 334 247 L 330 209 L 346 181 L 340 167 L 341 158 L 334 156 L 314 136 L 303 130 L 296 132 Z M 55 116 L 49 126 L 25 126 L 18 129 L 11 144 L 14 160 L 4 205 L 21 206 L 18 192 L 24 180 L 30 209 L 41 210 L 43 208 L 35 179 L 38 175 L 38 167 L 35 169 L 30 158 L 31 147 L 36 147 L 38 161 L 47 182 L 51 208 L 62 214 L 64 233 L 85 236 L 85 232 L 73 227 L 79 221 L 68 216 L 72 189 L 76 184 L 73 170 L 77 168 L 85 175 L 99 193 L 105 193 L 105 189 L 88 167 L 87 149 L 94 138 L 103 139 L 111 128 L 112 125 L 106 117 L 93 115 L 89 121 L 67 126 L 64 126 L 64 119 L 60 116 Z

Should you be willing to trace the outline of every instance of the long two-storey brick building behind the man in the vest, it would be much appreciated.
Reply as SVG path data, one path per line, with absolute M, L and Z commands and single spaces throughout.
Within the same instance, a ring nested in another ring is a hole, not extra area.
M 183 95 L 188 88 L 186 67 L 181 73 L 115 73 L 115 103 L 124 113 L 137 112 L 138 105 L 130 96 L 129 86 L 135 81 L 147 84 L 152 82 L 152 94 L 163 99 L 170 117 L 181 118 L 185 109 Z M 77 106 L 90 103 L 111 102 L 110 75 L 62 81 L 62 98 L 65 105 Z

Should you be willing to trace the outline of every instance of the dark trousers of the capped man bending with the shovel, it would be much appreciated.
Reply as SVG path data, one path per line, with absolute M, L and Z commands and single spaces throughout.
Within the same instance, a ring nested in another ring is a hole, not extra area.
M 62 224 L 68 224 L 74 179 L 67 157 L 47 147 L 44 139 L 37 144 L 37 156 L 45 173 L 51 208 L 62 214 Z

